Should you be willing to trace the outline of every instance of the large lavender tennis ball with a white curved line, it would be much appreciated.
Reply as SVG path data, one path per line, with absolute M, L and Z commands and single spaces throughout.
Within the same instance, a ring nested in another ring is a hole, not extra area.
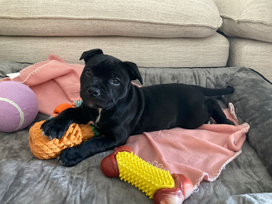
M 35 93 L 19 82 L 0 82 L 0 131 L 15 132 L 30 125 L 38 114 Z

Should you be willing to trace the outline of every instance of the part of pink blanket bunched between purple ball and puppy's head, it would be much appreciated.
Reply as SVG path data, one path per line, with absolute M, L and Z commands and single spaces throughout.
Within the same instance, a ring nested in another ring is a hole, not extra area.
M 36 94 L 39 112 L 52 115 L 63 103 L 71 104 L 80 98 L 80 75 L 84 65 L 68 64 L 55 55 L 22 69 L 19 77 L 1 81 L 15 81 L 28 85 Z

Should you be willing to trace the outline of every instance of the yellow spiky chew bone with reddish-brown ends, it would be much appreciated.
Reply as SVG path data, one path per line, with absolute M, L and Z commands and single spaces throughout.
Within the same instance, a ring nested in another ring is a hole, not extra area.
M 101 162 L 101 170 L 108 177 L 121 180 L 137 187 L 155 204 L 182 203 L 193 191 L 191 181 L 182 174 L 169 174 L 133 154 L 129 146 L 118 147 Z

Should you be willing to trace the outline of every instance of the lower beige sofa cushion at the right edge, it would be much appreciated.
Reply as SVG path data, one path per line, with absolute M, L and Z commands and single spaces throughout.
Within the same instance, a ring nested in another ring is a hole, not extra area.
M 228 66 L 245 66 L 260 72 L 272 82 L 272 43 L 228 37 Z

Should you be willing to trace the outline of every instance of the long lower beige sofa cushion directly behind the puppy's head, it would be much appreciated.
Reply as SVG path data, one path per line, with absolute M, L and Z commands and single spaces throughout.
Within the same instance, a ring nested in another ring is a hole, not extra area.
M 36 63 L 55 54 L 69 63 L 84 63 L 79 61 L 84 51 L 102 48 L 144 67 L 226 66 L 229 54 L 228 40 L 218 33 L 207 38 L 0 36 L 0 47 L 5 50 L 0 61 Z

